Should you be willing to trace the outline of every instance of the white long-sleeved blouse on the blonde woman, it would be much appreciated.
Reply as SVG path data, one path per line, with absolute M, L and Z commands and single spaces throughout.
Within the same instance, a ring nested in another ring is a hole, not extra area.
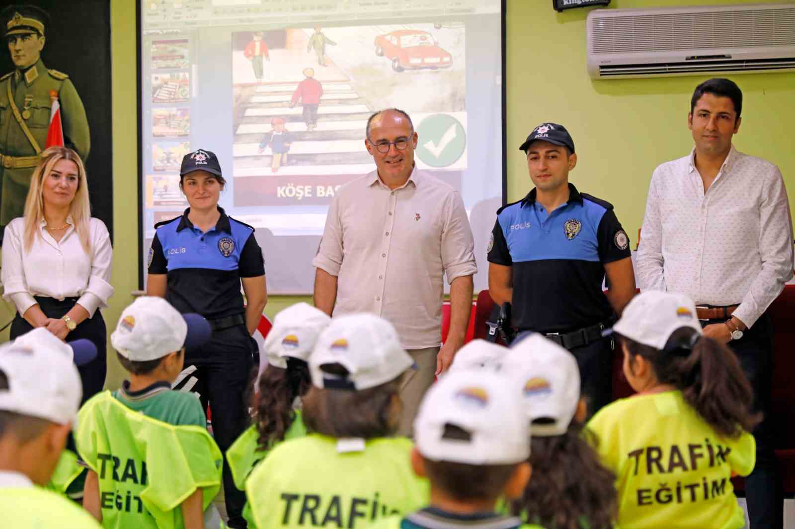
M 36 302 L 34 295 L 59 300 L 78 297 L 77 303 L 94 316 L 99 307 L 107 307 L 113 295 L 111 261 L 113 249 L 107 227 L 99 218 L 88 223 L 91 255 L 80 244 L 80 237 L 70 225 L 60 241 L 45 230 L 41 221 L 41 237 L 33 239 L 30 251 L 25 251 L 25 219 L 14 218 L 6 226 L 2 242 L 2 285 L 6 300 L 13 300 L 20 315 Z

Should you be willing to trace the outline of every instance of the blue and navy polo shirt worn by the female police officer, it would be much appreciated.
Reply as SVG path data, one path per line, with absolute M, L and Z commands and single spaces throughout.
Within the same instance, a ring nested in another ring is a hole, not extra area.
M 177 311 L 197 312 L 207 319 L 242 314 L 241 277 L 265 275 L 265 260 L 254 228 L 227 217 L 202 232 L 181 217 L 158 222 L 149 249 L 149 273 L 166 274 L 166 299 Z

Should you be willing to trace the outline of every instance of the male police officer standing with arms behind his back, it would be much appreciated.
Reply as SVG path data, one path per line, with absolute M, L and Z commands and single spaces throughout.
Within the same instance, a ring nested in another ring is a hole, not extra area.
M 572 351 L 594 413 L 611 401 L 612 342 L 602 330 L 635 294 L 630 240 L 610 203 L 568 183 L 577 155 L 563 125 L 538 125 L 519 149 L 536 187 L 497 211 L 489 293 L 495 303 L 512 303 L 518 330 Z

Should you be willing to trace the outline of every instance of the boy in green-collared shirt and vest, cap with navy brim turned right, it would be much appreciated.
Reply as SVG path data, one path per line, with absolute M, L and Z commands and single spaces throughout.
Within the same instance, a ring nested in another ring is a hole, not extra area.
M 159 297 L 142 296 L 122 312 L 111 344 L 130 380 L 88 400 L 75 434 L 90 469 L 83 507 L 103 527 L 205 527 L 223 456 L 199 400 L 171 384 L 185 348 L 210 333 L 200 315 L 180 315 Z

